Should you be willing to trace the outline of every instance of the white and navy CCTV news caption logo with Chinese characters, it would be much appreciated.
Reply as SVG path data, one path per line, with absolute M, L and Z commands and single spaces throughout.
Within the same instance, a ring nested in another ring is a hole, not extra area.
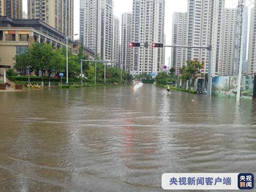
M 165 173 L 162 175 L 163 189 L 253 189 L 251 173 Z

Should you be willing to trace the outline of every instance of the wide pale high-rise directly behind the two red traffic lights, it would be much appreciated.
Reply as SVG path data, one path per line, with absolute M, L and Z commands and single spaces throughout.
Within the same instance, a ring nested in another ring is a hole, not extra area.
M 165 0 L 133 0 L 132 41 L 141 45 L 164 42 Z M 131 74 L 160 72 L 164 66 L 164 49 L 133 48 Z

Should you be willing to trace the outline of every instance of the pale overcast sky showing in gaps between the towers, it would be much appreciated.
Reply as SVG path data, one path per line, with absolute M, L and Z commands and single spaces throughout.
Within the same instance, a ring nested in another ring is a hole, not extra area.
M 122 18 L 123 12 L 132 11 L 132 0 L 113 0 L 114 2 L 114 15 Z M 188 0 L 165 0 L 165 34 L 166 44 L 171 44 L 171 25 L 172 25 L 172 13 L 175 11 L 187 11 Z M 250 4 L 249 0 L 246 0 L 246 5 Z M 235 8 L 238 5 L 238 0 L 226 0 L 225 7 Z M 79 33 L 79 7 L 80 0 L 74 0 L 74 34 Z M 250 6 L 252 7 L 252 5 Z M 23 0 L 23 10 L 27 12 L 27 0 Z M 250 11 L 250 9 L 249 9 Z M 250 13 L 249 13 L 250 15 Z M 249 26 L 248 26 L 249 27 Z M 249 31 L 249 30 L 248 30 Z M 170 56 L 171 50 L 166 50 L 166 61 Z M 168 65 L 168 63 L 166 63 Z

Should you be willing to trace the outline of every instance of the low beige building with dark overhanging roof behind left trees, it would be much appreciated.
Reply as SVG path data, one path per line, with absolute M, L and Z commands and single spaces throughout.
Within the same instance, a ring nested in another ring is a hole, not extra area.
M 51 44 L 53 48 L 66 47 L 66 35 L 52 28 L 39 19 L 12 19 L 0 16 L 0 57 L 1 65 L 13 67 L 15 55 L 25 53 L 33 42 Z M 78 54 L 80 45 L 69 40 L 68 47 L 73 54 Z M 89 58 L 94 52 L 84 47 L 84 54 Z M 2 70 L 1 70 L 2 72 Z

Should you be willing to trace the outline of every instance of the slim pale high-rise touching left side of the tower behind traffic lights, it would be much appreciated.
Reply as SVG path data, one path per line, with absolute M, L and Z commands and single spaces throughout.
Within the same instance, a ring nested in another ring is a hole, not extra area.
M 131 42 L 131 16 L 132 13 L 122 14 L 122 31 L 121 31 L 121 68 L 127 73 L 130 72 L 131 66 L 131 48 L 129 42 Z

